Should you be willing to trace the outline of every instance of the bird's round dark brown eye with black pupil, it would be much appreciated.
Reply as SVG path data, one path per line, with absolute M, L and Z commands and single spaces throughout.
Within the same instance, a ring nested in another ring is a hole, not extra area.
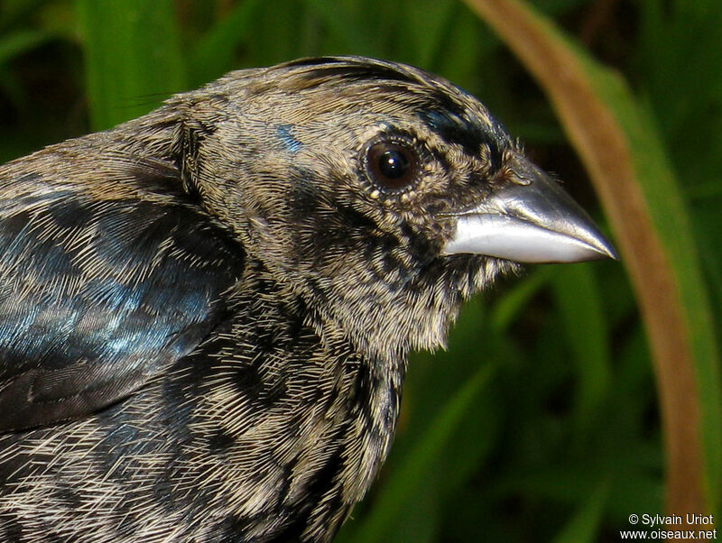
M 417 178 L 419 155 L 408 144 L 375 143 L 368 148 L 366 169 L 382 189 L 404 189 Z

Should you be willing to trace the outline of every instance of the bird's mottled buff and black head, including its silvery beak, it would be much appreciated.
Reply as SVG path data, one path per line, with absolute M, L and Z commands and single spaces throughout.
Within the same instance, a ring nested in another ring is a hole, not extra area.
M 177 99 L 190 190 L 371 357 L 442 345 L 518 262 L 614 256 L 485 106 L 420 69 L 297 60 Z

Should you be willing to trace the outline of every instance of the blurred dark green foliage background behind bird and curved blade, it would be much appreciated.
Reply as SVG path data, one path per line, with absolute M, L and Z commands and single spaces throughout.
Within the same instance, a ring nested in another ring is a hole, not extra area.
M 535 5 L 619 70 L 657 124 L 721 336 L 722 4 Z M 451 79 L 597 209 L 539 89 L 457 0 L 0 0 L 0 161 L 230 69 L 321 54 Z M 501 282 L 467 304 L 447 351 L 412 357 L 391 456 L 340 541 L 606 541 L 631 513 L 662 513 L 653 374 L 623 267 L 532 267 Z

